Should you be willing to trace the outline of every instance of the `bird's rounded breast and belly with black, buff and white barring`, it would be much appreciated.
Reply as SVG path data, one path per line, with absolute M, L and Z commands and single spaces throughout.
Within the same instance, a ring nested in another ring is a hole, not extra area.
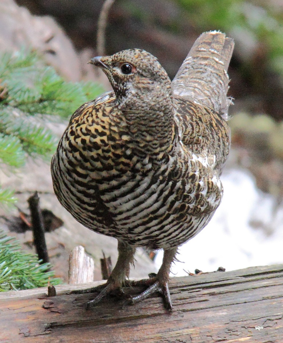
M 84 110 L 66 129 L 52 161 L 59 201 L 86 227 L 136 246 L 194 237 L 221 201 L 218 176 L 181 144 L 159 161 L 140 153 L 108 108 Z

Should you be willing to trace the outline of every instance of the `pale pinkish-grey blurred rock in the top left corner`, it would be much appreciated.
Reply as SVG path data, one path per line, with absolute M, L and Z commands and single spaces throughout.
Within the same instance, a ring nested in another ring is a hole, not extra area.
M 0 2 L 0 51 L 23 47 L 38 50 L 66 80 L 79 81 L 79 60 L 63 29 L 50 17 L 40 17 L 13 0 Z

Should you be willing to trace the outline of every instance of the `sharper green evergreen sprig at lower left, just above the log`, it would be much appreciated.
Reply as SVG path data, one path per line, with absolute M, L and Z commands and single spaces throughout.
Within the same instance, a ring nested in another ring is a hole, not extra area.
M 50 264 L 39 262 L 36 255 L 22 251 L 14 237 L 0 231 L 0 292 L 60 284 L 54 272 L 48 271 Z

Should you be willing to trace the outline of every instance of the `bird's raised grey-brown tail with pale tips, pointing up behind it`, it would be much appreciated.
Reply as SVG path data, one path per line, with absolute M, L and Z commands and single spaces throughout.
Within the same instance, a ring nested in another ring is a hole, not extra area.
M 219 31 L 199 36 L 172 81 L 174 94 L 189 97 L 228 118 L 227 69 L 234 40 Z

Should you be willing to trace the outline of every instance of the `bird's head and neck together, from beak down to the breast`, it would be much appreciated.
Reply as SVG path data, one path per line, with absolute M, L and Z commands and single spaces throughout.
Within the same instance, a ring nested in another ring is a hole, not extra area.
M 157 58 L 131 49 L 89 62 L 107 75 L 139 154 L 161 156 L 171 144 L 173 99 L 171 81 Z

